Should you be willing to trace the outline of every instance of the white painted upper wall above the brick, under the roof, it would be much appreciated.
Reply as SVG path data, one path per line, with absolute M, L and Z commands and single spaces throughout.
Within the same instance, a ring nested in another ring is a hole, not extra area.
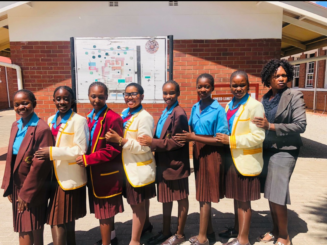
M 32 2 L 8 11 L 10 41 L 70 37 L 166 36 L 174 39 L 281 38 L 283 9 L 268 3 L 179 1 Z

